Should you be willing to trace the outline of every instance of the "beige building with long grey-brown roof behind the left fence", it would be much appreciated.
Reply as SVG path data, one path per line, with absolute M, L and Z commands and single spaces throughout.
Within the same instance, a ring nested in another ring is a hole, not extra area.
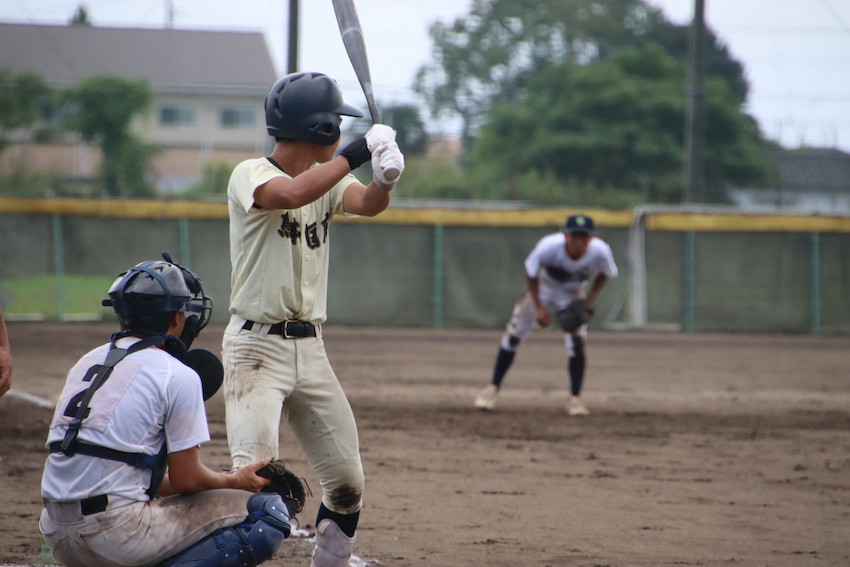
M 134 128 L 164 150 L 154 160 L 164 190 L 196 182 L 208 162 L 235 165 L 268 150 L 263 101 L 277 74 L 260 32 L 0 24 L 0 68 L 53 87 L 91 75 L 147 79 L 152 112 Z M 36 144 L 21 132 L 0 154 L 0 172 L 23 163 L 85 180 L 99 159 L 77 139 Z

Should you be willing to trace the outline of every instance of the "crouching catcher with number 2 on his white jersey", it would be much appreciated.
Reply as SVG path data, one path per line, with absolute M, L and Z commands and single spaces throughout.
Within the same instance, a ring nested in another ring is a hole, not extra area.
M 170 261 L 143 262 L 115 280 L 104 305 L 121 331 L 68 372 L 47 437 L 47 547 L 68 567 L 269 559 L 290 525 L 278 494 L 254 494 L 269 484 L 255 474 L 268 461 L 225 474 L 200 460 L 210 439 L 204 396 L 222 373 L 215 355 L 188 350 L 212 312 L 201 280 Z M 212 380 L 199 360 L 217 365 Z

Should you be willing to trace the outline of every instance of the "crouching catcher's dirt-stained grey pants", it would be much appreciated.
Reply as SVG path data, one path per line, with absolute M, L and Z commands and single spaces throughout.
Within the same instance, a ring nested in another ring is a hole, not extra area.
M 46 500 L 39 530 L 53 557 L 67 567 L 155 565 L 218 528 L 243 522 L 251 496 L 244 490 L 208 490 L 88 516 L 79 500 Z

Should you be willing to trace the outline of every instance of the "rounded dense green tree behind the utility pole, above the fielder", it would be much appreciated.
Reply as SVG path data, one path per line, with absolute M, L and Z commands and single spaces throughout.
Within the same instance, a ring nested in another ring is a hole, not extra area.
M 685 67 L 660 46 L 626 48 L 593 65 L 562 63 L 532 75 L 518 103 L 494 106 L 470 166 L 492 196 L 548 201 L 552 183 L 625 190 L 626 200 L 680 198 Z M 726 81 L 706 81 L 706 171 L 714 200 L 728 181 L 769 178 L 755 122 Z M 534 173 L 537 184 L 529 183 Z M 549 180 L 549 182 L 547 182 Z M 595 203 L 592 194 L 590 202 Z

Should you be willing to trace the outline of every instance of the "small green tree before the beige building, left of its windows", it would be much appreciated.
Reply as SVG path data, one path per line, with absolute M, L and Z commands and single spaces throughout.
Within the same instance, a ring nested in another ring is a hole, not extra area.
M 107 195 L 152 195 L 150 162 L 158 149 L 132 132 L 134 118 L 153 98 L 144 79 L 102 75 L 83 79 L 68 93 L 68 126 L 102 153 L 99 186 Z

